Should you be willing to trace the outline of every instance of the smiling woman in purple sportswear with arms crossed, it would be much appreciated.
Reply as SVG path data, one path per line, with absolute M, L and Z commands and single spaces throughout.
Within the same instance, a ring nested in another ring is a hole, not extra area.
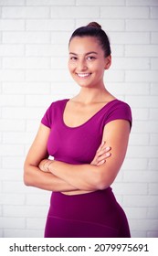
M 79 95 L 47 109 L 26 156 L 25 184 L 54 191 L 45 237 L 130 237 L 111 184 L 126 154 L 132 113 L 103 82 L 111 67 L 110 42 L 92 22 L 74 31 L 68 50 Z

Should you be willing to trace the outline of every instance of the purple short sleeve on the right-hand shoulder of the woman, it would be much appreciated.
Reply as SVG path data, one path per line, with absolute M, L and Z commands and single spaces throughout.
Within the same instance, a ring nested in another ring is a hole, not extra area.
M 117 119 L 129 121 L 130 126 L 132 128 L 132 110 L 131 107 L 126 102 L 117 101 L 112 106 L 111 111 L 105 118 L 104 125 Z

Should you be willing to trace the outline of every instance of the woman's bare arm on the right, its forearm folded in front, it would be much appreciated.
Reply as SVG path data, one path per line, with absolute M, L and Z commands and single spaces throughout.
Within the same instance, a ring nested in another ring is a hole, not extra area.
M 49 171 L 81 190 L 104 189 L 111 186 L 127 151 L 130 123 L 115 120 L 105 125 L 103 141 L 111 144 L 111 157 L 103 165 L 69 165 L 52 161 Z

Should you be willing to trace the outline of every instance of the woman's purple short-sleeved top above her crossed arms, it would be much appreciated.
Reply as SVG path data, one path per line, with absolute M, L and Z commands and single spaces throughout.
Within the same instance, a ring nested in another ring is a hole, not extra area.
M 113 100 L 103 106 L 87 122 L 68 127 L 63 113 L 69 100 L 53 102 L 43 116 L 41 123 L 51 129 L 47 142 L 47 152 L 55 160 L 72 165 L 90 164 L 100 146 L 104 126 L 116 119 L 131 123 L 130 106 L 119 100 Z

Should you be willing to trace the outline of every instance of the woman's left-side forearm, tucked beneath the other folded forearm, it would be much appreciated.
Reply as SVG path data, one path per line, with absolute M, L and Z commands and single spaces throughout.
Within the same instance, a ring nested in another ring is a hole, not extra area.
M 42 172 L 34 165 L 25 166 L 24 182 L 26 186 L 38 187 L 50 191 L 66 192 L 78 190 L 60 177 L 51 173 Z

